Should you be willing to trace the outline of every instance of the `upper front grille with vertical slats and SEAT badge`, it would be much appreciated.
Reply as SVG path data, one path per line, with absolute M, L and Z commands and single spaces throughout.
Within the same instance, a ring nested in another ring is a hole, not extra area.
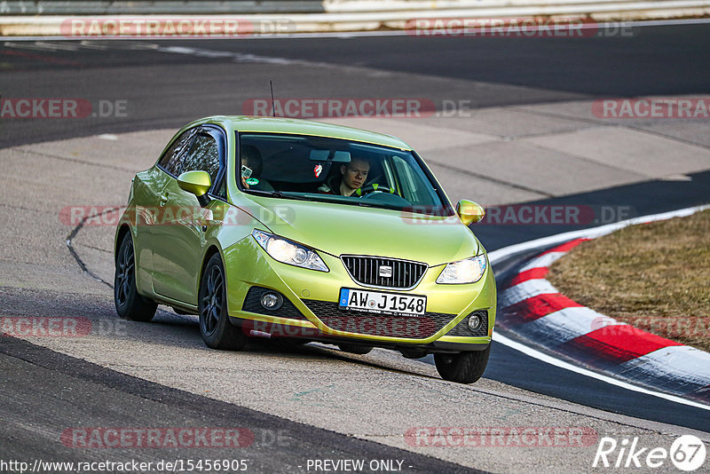
M 409 260 L 383 257 L 340 257 L 352 280 L 376 288 L 414 288 L 422 280 L 427 265 Z

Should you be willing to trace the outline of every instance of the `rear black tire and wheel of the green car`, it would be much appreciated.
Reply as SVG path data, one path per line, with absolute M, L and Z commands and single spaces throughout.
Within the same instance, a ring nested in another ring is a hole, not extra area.
M 133 239 L 126 233 L 116 256 L 114 273 L 114 304 L 123 320 L 149 321 L 155 315 L 158 304 L 138 294 L 136 288 L 136 255 Z

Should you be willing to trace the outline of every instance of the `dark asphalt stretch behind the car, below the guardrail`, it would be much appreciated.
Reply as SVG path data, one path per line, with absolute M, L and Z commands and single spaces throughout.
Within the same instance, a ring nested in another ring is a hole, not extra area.
M 469 100 L 471 107 L 707 92 L 710 26 L 631 33 L 572 39 L 112 40 L 88 41 L 76 51 L 71 47 L 80 42 L 4 43 L 3 97 L 79 97 L 94 105 L 127 100 L 129 109 L 126 117 L 89 117 L 81 125 L 3 121 L 0 145 L 177 128 L 195 117 L 233 115 L 245 100 L 268 97 L 269 80 L 281 99 L 414 97 L 437 106 Z M 181 46 L 201 51 L 179 51 Z M 227 52 L 237 56 L 219 56 Z M 313 66 L 323 63 L 333 68 Z

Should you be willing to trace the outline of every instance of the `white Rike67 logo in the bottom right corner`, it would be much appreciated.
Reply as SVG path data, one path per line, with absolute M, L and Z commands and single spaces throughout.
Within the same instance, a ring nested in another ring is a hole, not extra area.
M 693 435 L 683 435 L 676 438 L 670 449 L 661 446 L 641 446 L 638 437 L 633 440 L 624 438 L 618 442 L 614 438 L 604 436 L 599 440 L 592 467 L 616 469 L 661 469 L 669 472 L 668 461 L 676 469 L 685 472 L 698 470 L 706 459 L 706 446 L 703 441 Z

